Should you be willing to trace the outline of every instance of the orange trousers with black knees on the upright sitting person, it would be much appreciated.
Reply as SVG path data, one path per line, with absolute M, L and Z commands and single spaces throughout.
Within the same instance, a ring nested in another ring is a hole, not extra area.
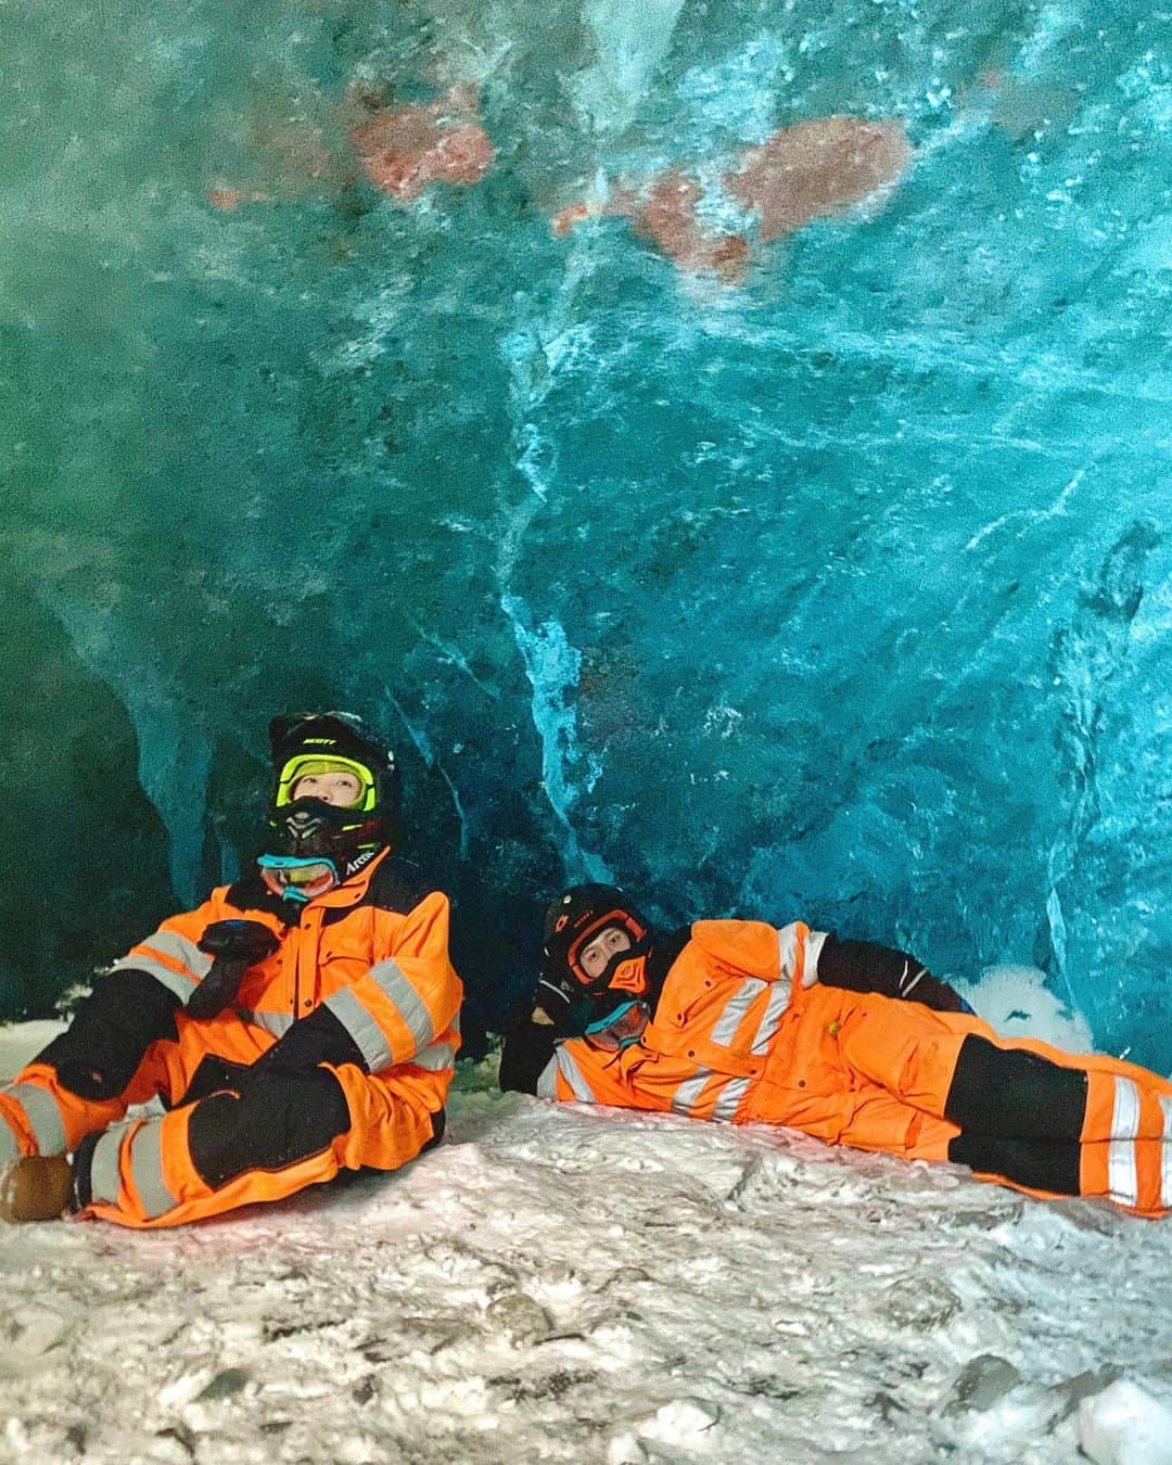
M 0 1090 L 0 1119 L 23 1154 L 78 1151 L 92 1198 L 84 1216 L 123 1226 L 176 1226 L 252 1201 L 280 1200 L 341 1169 L 396 1169 L 437 1134 L 410 1074 L 371 1075 L 346 1064 L 274 1071 L 183 1103 L 207 1059 L 251 1065 L 274 1039 L 231 1012 L 176 1014 L 176 1040 L 151 1043 L 126 1088 L 88 1099 L 34 1061 Z M 126 1119 L 154 1097 L 179 1105 Z M 97 1134 L 97 1141 L 94 1135 Z M 85 1141 L 85 1143 L 84 1143 Z

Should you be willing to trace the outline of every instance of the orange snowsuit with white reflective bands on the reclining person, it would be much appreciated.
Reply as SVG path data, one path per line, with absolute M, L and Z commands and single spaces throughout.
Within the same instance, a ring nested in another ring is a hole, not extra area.
M 1106 1195 L 1147 1216 L 1172 1209 L 1172 1083 L 1119 1059 L 1001 1037 L 968 1014 L 822 986 L 820 939 L 801 921 L 781 930 L 697 921 L 642 1039 L 620 1052 L 589 1037 L 560 1043 L 538 1094 L 779 1124 L 910 1160 L 960 1159 L 1030 1194 Z M 1061 1132 L 1062 1116 L 1043 1112 L 1021 1115 L 1017 1132 L 1005 1132 L 999 1094 L 989 1096 L 987 1124 L 980 1094 L 976 1103 L 965 1097 L 957 1122 L 965 1043 L 977 1059 L 967 1068 L 987 1071 L 993 1086 L 1002 1072 L 1011 1084 L 1045 1084 L 1049 1075 L 1065 1091 L 1077 1071 L 1084 1088 L 1074 1131 Z M 1064 1154 L 1075 1176 L 1068 1188 L 1028 1182 Z

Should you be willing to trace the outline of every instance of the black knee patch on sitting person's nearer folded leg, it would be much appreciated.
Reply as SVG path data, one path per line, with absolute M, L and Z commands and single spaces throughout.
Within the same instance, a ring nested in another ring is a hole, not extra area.
M 267 1074 L 242 1094 L 202 1099 L 188 1124 L 201 1179 L 217 1190 L 246 1171 L 280 1171 L 318 1154 L 350 1128 L 350 1108 L 328 1068 Z

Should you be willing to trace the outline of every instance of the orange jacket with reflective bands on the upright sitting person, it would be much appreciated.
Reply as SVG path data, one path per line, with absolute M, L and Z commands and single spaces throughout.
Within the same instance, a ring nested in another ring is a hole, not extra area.
M 211 968 L 198 945 L 204 930 L 237 917 L 261 921 L 280 946 L 245 974 L 236 1015 L 259 1030 L 264 1043 L 262 1034 L 275 1040 L 324 1005 L 372 1074 L 415 1075 L 412 1087 L 435 1110 L 460 1046 L 463 987 L 448 960 L 448 901 L 440 891 L 422 900 L 416 892 L 387 898 L 391 858 L 384 851 L 344 885 L 309 901 L 296 926 L 272 914 L 271 901 L 249 905 L 251 882 L 220 886 L 196 910 L 164 920 L 114 967 L 151 973 L 186 1004 Z

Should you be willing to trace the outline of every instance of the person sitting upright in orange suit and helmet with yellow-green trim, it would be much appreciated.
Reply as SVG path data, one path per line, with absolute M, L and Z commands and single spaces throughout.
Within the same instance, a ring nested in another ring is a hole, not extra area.
M 116 961 L 0 1088 L 4 1220 L 174 1226 L 442 1135 L 461 986 L 447 897 L 390 848 L 394 759 L 349 713 L 270 737 L 274 853 Z

